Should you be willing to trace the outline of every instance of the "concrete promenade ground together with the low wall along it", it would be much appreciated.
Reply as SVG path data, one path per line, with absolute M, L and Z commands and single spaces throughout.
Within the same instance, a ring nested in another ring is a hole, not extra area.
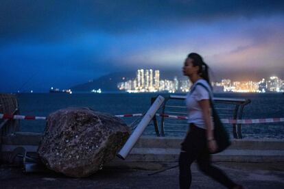
M 40 135 L 16 134 L 2 138 L 3 162 L 15 147 L 35 153 Z M 177 164 L 182 138 L 142 137 L 126 160 L 116 158 L 102 171 L 74 179 L 53 172 L 23 173 L 18 166 L 0 166 L 0 188 L 178 188 L 178 168 L 148 176 Z M 284 140 L 233 140 L 213 155 L 214 164 L 246 188 L 284 188 Z M 192 166 L 191 188 L 224 188 Z

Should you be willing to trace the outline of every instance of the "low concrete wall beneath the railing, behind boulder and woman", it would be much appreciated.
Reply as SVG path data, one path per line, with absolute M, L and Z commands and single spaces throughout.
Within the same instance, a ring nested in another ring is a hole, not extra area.
M 1 158 L 7 162 L 16 147 L 25 147 L 28 152 L 36 152 L 40 134 L 16 134 L 2 137 Z M 126 158 L 131 162 L 177 162 L 180 143 L 183 138 L 143 136 Z M 232 145 L 213 155 L 215 162 L 284 162 L 284 139 L 239 139 Z M 122 163 L 117 160 L 116 164 Z

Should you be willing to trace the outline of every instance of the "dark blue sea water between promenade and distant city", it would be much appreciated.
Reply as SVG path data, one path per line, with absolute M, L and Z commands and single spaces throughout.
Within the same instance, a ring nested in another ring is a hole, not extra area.
M 16 97 L 19 101 L 20 114 L 48 116 L 51 112 L 67 107 L 88 107 L 95 111 L 113 115 L 145 113 L 150 108 L 151 98 L 157 95 L 156 93 L 75 93 L 72 95 L 64 93 L 23 93 L 17 94 Z M 281 93 L 217 93 L 215 97 L 250 99 L 251 103 L 245 106 L 242 118 L 284 117 L 284 95 Z M 172 101 L 171 104 L 174 105 L 175 101 Z M 178 101 L 176 104 L 184 105 L 184 101 Z M 136 119 L 137 117 L 123 118 L 123 121 L 130 125 Z M 160 119 L 158 118 L 159 123 Z M 45 129 L 45 121 L 42 120 L 22 120 L 20 125 L 21 131 L 43 132 Z M 186 121 L 183 121 L 180 125 L 165 124 L 165 129 L 180 127 L 178 129 L 187 130 Z M 232 134 L 233 125 L 226 124 L 226 127 Z M 284 123 L 246 124 L 242 125 L 241 128 L 244 138 L 284 138 Z M 156 134 L 152 123 L 148 125 L 144 134 L 153 136 Z M 165 132 L 165 135 L 184 136 L 185 132 Z

